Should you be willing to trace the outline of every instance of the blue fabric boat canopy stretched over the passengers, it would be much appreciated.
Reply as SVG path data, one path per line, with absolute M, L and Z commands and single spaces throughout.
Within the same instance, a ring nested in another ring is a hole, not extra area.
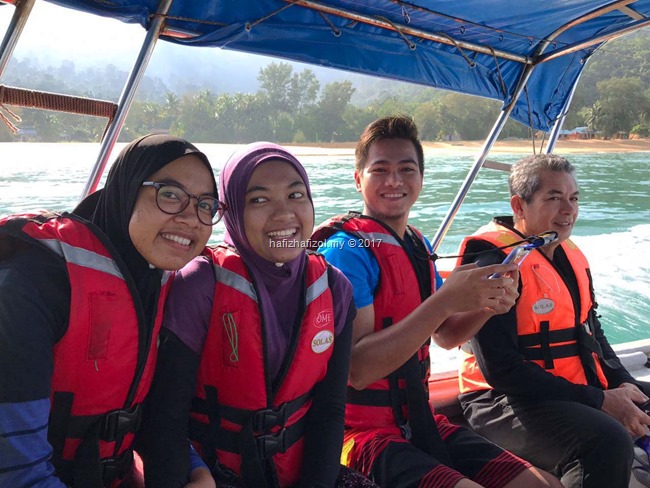
M 51 1 L 144 28 L 158 8 Z M 161 38 L 514 101 L 514 119 L 548 131 L 589 56 L 649 17 L 650 0 L 174 0 Z

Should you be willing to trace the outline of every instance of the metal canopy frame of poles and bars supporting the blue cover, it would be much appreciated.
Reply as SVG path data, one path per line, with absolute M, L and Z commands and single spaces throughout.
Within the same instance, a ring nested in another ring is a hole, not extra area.
M 131 73 L 124 86 L 122 94 L 120 95 L 116 116 L 108 126 L 105 136 L 102 139 L 102 144 L 101 144 L 98 159 L 95 163 L 95 166 L 93 167 L 91 176 L 88 179 L 86 187 L 84 188 L 82 198 L 88 195 L 89 193 L 93 192 L 99 184 L 108 157 L 117 141 L 119 132 L 124 124 L 124 120 L 126 119 L 126 114 L 128 112 L 128 109 L 131 106 L 133 97 L 142 79 L 142 76 L 149 62 L 149 59 L 152 55 L 153 49 L 155 47 L 158 38 L 161 37 L 162 35 L 164 36 L 164 38 L 182 40 L 182 42 L 187 43 L 188 41 L 191 42 L 193 38 L 201 37 L 201 36 L 193 36 L 191 32 L 188 32 L 187 30 L 184 30 L 182 28 L 165 25 L 165 19 L 170 12 L 172 1 L 173 0 L 161 0 L 156 14 L 152 16 L 152 19 L 150 19 L 150 23 L 147 27 L 147 35 L 141 47 L 140 54 L 133 66 L 133 69 L 131 70 Z M 505 59 L 509 61 L 515 61 L 522 65 L 523 69 L 521 70 L 521 73 L 518 77 L 516 86 L 512 90 L 513 92 L 509 94 L 504 94 L 505 99 L 509 100 L 509 102 L 504 104 L 504 107 L 502 108 L 502 111 L 497 121 L 495 122 L 493 128 L 491 129 L 490 134 L 486 138 L 480 153 L 476 157 L 472 168 L 469 170 L 465 180 L 463 181 L 456 197 L 454 198 L 447 214 L 443 219 L 443 222 L 441 223 L 440 228 L 438 229 L 434 238 L 432 239 L 432 246 L 434 250 L 438 248 L 442 239 L 447 233 L 449 227 L 451 226 L 451 223 L 456 213 L 458 212 L 460 205 L 462 204 L 462 201 L 467 195 L 473 181 L 478 176 L 478 172 L 480 171 L 481 167 L 486 165 L 487 156 L 490 152 L 490 149 L 492 148 L 498 135 L 503 129 L 508 117 L 512 113 L 512 110 L 517 100 L 520 98 L 521 93 L 524 91 L 526 84 L 528 83 L 530 76 L 534 72 L 536 67 L 544 63 L 548 63 L 559 57 L 567 56 L 569 54 L 576 53 L 586 48 L 590 48 L 590 47 L 598 48 L 600 45 L 606 43 L 611 39 L 618 38 L 624 34 L 636 31 L 638 29 L 650 25 L 650 18 L 644 17 L 643 15 L 639 14 L 637 11 L 634 10 L 633 5 L 634 3 L 636 3 L 637 0 L 616 0 L 616 1 L 612 1 L 611 3 L 605 6 L 594 9 L 593 11 L 590 11 L 576 19 L 573 19 L 570 22 L 567 22 L 565 25 L 556 29 L 553 33 L 551 33 L 550 35 L 542 39 L 542 41 L 538 44 L 532 56 L 522 56 L 517 53 L 495 49 L 492 46 L 487 44 L 468 42 L 466 40 L 450 36 L 447 33 L 426 31 L 423 29 L 414 28 L 407 24 L 396 23 L 384 17 L 365 15 L 363 13 L 353 12 L 348 9 L 333 7 L 324 2 L 320 2 L 316 0 L 284 0 L 284 1 L 287 4 L 285 8 L 302 7 L 302 8 L 306 8 L 318 12 L 321 15 L 337 16 L 339 18 L 343 18 L 351 22 L 360 22 L 360 23 L 371 25 L 373 27 L 397 32 L 402 37 L 404 42 L 409 44 L 409 47 L 411 49 L 414 49 L 415 45 L 410 44 L 411 41 L 409 40 L 409 37 L 416 38 L 416 39 L 423 39 L 427 41 L 433 41 L 448 46 L 453 46 L 461 51 L 466 50 L 472 53 L 487 54 L 493 56 L 495 59 Z M 408 2 L 404 2 L 403 0 L 391 0 L 391 2 L 401 6 L 417 8 L 417 6 L 414 6 L 413 4 L 410 4 Z M 16 0 L 12 2 L 8 2 L 8 0 L 5 0 L 5 3 L 15 3 L 16 14 L 14 16 L 14 20 L 12 20 L 12 23 L 7 31 L 5 39 L 2 45 L 0 46 L 0 76 L 2 75 L 2 70 L 6 66 L 6 63 L 11 53 L 13 52 L 13 48 L 15 47 L 20 32 L 24 27 L 27 17 L 29 16 L 29 12 L 34 3 L 34 0 Z M 284 9 L 280 9 L 280 10 L 284 10 Z M 583 39 L 580 42 L 565 45 L 558 49 L 555 49 L 554 46 L 554 49 L 552 51 L 546 52 L 546 49 L 549 47 L 549 45 L 554 44 L 554 41 L 558 39 L 562 34 L 566 33 L 567 31 L 570 31 L 572 28 L 576 26 L 584 24 L 585 22 L 597 19 L 598 17 L 607 15 L 608 13 L 614 11 L 622 12 L 623 14 L 627 15 L 630 19 L 632 19 L 633 22 L 618 26 L 617 28 L 614 28 L 612 31 L 608 32 L 607 34 L 595 35 L 592 38 Z M 442 14 L 432 10 L 427 10 L 427 13 L 433 15 L 439 15 L 441 18 L 449 19 L 449 16 L 447 16 L 446 14 Z M 269 14 L 265 18 L 270 18 L 272 16 L 273 16 L 272 14 Z M 174 19 L 174 18 L 175 17 L 170 17 L 170 19 Z M 184 20 L 191 21 L 192 19 L 184 19 Z M 453 19 L 453 20 L 464 22 L 463 19 Z M 263 21 L 264 19 L 260 20 L 260 22 Z M 201 20 L 197 19 L 197 22 L 201 22 Z M 481 27 L 489 28 L 486 26 L 481 26 Z M 252 48 L 251 50 L 254 49 L 255 48 Z M 467 56 L 463 55 L 463 57 L 465 57 L 468 63 L 472 62 L 471 59 L 468 58 Z M 326 60 L 322 60 L 321 63 L 323 65 L 327 65 Z M 497 63 L 497 68 L 498 68 L 498 63 Z M 573 86 L 571 87 L 571 93 L 569 97 L 566 99 L 566 103 L 564 105 L 561 115 L 555 120 L 550 130 L 549 142 L 546 148 L 547 152 L 551 152 L 555 147 L 557 137 L 559 135 L 562 126 L 562 122 L 564 120 L 564 117 L 566 116 L 566 112 L 571 102 L 571 98 L 573 97 L 573 93 L 575 92 L 575 88 L 578 83 L 578 80 L 579 80 L 579 76 L 576 78 Z

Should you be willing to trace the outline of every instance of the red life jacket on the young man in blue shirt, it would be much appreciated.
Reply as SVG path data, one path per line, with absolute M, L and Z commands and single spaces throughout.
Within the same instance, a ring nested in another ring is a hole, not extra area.
M 323 242 L 338 231 L 343 231 L 361 241 L 361 246 L 369 249 L 379 265 L 381 278 L 374 293 L 375 331 L 380 331 L 397 323 L 416 309 L 423 301 L 421 289 L 424 286 L 416 273 L 415 263 L 405 252 L 404 242 L 392 230 L 371 217 L 350 212 L 338 215 L 322 223 L 312 235 L 313 242 Z M 408 228 L 414 237 L 425 246 L 419 231 Z M 427 256 L 428 259 L 428 251 Z M 435 269 L 429 261 L 431 286 L 424 295 L 435 292 Z M 419 286 L 413 286 L 417 283 Z M 429 343 L 418 350 L 412 361 L 419 364 L 419 377 L 428 398 Z M 362 391 L 348 385 L 348 398 L 345 409 L 345 425 L 350 429 L 375 429 L 382 427 L 405 428 L 408 421 L 406 405 L 406 384 L 402 368 L 387 378 L 368 385 Z

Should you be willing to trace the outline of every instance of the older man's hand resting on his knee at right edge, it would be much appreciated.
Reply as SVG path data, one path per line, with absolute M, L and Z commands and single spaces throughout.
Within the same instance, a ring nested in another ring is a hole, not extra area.
M 632 437 L 640 437 L 649 433 L 650 416 L 636 404 L 647 400 L 648 397 L 636 386 L 623 383 L 613 390 L 605 390 L 601 410 L 623 424 Z

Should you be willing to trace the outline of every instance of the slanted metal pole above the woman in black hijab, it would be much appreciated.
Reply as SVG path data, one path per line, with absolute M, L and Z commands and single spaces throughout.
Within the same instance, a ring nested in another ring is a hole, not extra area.
M 156 16 L 151 22 L 151 26 L 147 31 L 147 36 L 144 39 L 142 48 L 140 49 L 140 54 L 133 65 L 129 79 L 126 82 L 126 85 L 124 85 L 124 90 L 120 95 L 117 111 L 115 112 L 115 118 L 111 122 L 104 138 L 102 139 L 102 147 L 99 150 L 97 162 L 95 163 L 92 173 L 86 182 L 84 191 L 81 194 L 81 199 L 94 192 L 97 185 L 99 185 L 99 180 L 101 179 L 106 163 L 108 162 L 108 157 L 117 142 L 117 137 L 124 125 L 129 108 L 131 108 L 135 92 L 144 76 L 149 59 L 151 58 L 154 47 L 156 46 L 156 41 L 164 28 L 164 19 L 167 12 L 169 12 L 172 1 L 173 0 L 161 0 L 160 2 Z

